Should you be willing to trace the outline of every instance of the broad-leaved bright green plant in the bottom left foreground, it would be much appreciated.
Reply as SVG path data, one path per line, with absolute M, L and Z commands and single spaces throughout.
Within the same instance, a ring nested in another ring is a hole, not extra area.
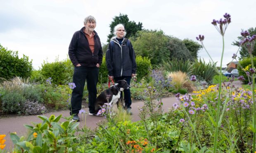
M 78 123 L 72 121 L 58 123 L 61 117 L 62 115 L 57 117 L 51 115 L 50 118 L 38 116 L 43 121 L 42 123 L 34 124 L 34 126 L 25 125 L 30 130 L 27 138 L 11 133 L 14 152 L 72 152 L 73 147 L 77 145 L 73 140 L 76 139 L 74 132 Z

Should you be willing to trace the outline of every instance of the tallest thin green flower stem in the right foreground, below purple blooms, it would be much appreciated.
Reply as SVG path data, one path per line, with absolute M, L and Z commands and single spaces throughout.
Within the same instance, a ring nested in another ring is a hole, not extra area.
M 218 127 L 219 127 L 219 119 L 220 119 L 220 94 L 221 94 L 221 78 L 222 78 L 222 60 L 223 60 L 223 54 L 224 54 L 224 36 L 222 35 L 222 54 L 221 54 L 221 60 L 220 60 L 220 74 L 219 74 L 219 94 L 218 94 L 218 105 L 217 105 L 217 116 L 216 116 L 216 129 L 215 129 L 215 137 L 214 137 L 214 148 L 213 148 L 213 153 L 216 153 L 217 145 L 218 145 Z M 220 122 L 221 123 L 221 122 Z

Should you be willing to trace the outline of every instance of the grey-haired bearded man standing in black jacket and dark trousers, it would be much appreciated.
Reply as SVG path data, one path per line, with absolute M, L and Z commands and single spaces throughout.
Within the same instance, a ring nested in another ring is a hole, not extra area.
M 96 115 L 94 103 L 97 96 L 97 82 L 99 67 L 102 63 L 102 46 L 97 32 L 96 20 L 93 16 L 87 16 L 84 20 L 84 27 L 76 31 L 69 45 L 69 58 L 75 66 L 73 89 L 71 97 L 70 115 L 73 121 L 80 121 L 78 116 L 82 107 L 83 89 L 85 80 L 89 93 L 89 115 Z

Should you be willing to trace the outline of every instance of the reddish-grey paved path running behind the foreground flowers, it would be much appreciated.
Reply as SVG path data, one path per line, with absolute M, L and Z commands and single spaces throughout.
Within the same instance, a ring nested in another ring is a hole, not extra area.
M 175 102 L 178 102 L 175 98 L 173 97 L 167 97 L 162 99 L 163 102 L 163 109 L 164 112 L 167 112 L 169 108 L 173 106 Z M 132 104 L 132 121 L 139 121 L 140 117 L 138 116 L 139 110 L 138 107 L 142 107 L 144 105 L 143 101 L 139 102 L 134 102 Z M 84 109 L 86 112 L 88 112 L 88 108 Z M 69 116 L 69 111 L 58 111 L 58 112 L 52 112 L 52 113 L 47 113 L 44 114 L 44 116 L 50 117 L 52 114 L 55 116 L 59 116 L 62 114 L 63 117 Z M 82 120 L 82 115 L 79 115 L 80 119 Z M 90 129 L 94 129 L 97 127 L 96 123 L 98 123 L 100 120 L 103 120 L 102 116 L 90 116 L 86 115 L 86 126 L 89 127 Z M 13 144 L 10 139 L 10 132 L 17 132 L 17 135 L 20 136 L 26 136 L 27 131 L 24 125 L 33 125 L 33 123 L 41 123 L 42 120 L 38 118 L 36 115 L 31 115 L 31 116 L 19 116 L 19 117 L 13 117 L 13 118 L 1 118 L 0 119 L 0 134 L 6 134 L 6 147 L 5 149 L 12 148 Z M 60 121 L 66 121 L 64 118 L 62 118 Z M 79 127 L 83 127 L 85 125 L 85 121 L 80 121 L 79 122 Z

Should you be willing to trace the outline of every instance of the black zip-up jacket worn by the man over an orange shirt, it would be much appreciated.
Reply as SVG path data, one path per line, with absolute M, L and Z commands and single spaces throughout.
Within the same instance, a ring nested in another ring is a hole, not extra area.
M 74 66 L 81 64 L 83 67 L 96 67 L 102 63 L 102 46 L 96 31 L 94 36 L 94 52 L 92 53 L 88 39 L 83 32 L 85 27 L 76 31 L 69 44 L 69 58 Z

